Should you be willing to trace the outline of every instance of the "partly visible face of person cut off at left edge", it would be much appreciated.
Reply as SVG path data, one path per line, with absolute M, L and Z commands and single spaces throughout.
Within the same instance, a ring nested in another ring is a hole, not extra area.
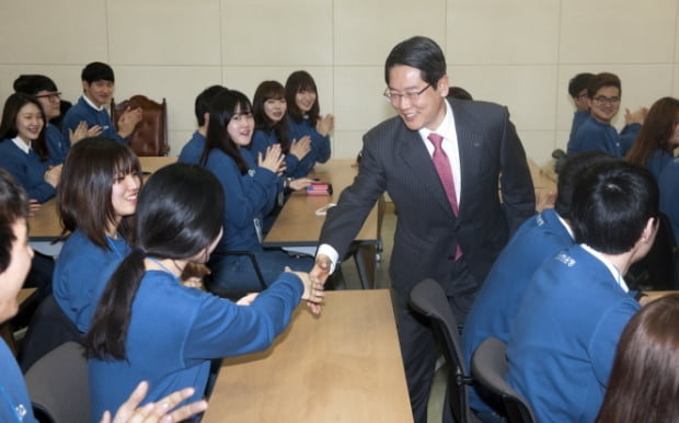
M 16 219 L 12 225 L 14 241 L 10 265 L 0 274 L 0 322 L 16 315 L 19 304 L 16 296 L 24 284 L 24 279 L 31 270 L 33 249 L 28 245 L 28 227 L 26 219 Z

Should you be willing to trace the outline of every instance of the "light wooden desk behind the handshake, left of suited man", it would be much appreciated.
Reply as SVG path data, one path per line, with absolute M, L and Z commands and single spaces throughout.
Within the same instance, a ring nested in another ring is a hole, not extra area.
M 358 173 L 358 168 L 352 167 L 354 162 L 355 160 L 352 159 L 333 159 L 326 163 L 317 164 L 309 178 L 332 183 L 333 194 L 314 196 L 307 195 L 304 192 L 292 193 L 262 244 L 264 247 L 318 245 L 325 216 L 317 216 L 315 210 L 329 203 L 337 204 L 342 191 L 352 184 L 354 176 Z M 373 244 L 378 242 L 377 207 L 372 208 L 355 240 Z

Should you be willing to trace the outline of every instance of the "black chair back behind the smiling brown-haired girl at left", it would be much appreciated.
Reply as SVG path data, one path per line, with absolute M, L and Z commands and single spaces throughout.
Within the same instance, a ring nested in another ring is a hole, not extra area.
M 31 318 L 19 355 L 21 370 L 26 373 L 41 357 L 68 341 L 80 339 L 76 324 L 66 316 L 53 295 L 47 296 Z

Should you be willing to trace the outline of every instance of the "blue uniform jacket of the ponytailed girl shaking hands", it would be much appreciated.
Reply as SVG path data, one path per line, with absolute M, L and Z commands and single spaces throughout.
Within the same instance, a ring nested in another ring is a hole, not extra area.
M 149 381 L 145 403 L 189 386 L 196 391 L 186 402 L 199 400 L 210 359 L 267 348 L 287 327 L 302 289 L 297 275 L 284 273 L 251 306 L 237 306 L 181 286 L 166 272 L 146 272 L 133 302 L 127 361 L 89 361 L 92 421 L 117 410 L 141 380 Z

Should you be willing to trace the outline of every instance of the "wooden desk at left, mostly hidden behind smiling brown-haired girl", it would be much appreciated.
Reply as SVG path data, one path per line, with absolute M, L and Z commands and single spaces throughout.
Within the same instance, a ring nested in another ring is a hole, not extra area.
M 146 173 L 153 173 L 165 164 L 176 161 L 176 156 L 163 157 L 140 157 L 141 170 Z M 35 216 L 28 219 L 31 230 L 28 232 L 31 241 L 53 241 L 61 233 L 61 224 L 57 214 L 57 202 L 55 198 L 44 203 Z

